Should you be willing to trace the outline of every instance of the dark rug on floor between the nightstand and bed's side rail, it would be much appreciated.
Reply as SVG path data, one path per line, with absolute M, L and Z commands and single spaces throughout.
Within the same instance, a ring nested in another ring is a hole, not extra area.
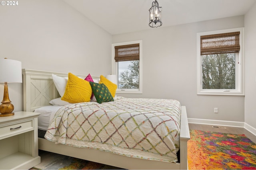
M 31 169 L 39 170 L 88 170 L 88 169 L 122 169 L 114 166 L 91 162 L 65 156 L 62 154 L 55 154 L 44 150 L 39 150 L 41 156 L 41 163 Z

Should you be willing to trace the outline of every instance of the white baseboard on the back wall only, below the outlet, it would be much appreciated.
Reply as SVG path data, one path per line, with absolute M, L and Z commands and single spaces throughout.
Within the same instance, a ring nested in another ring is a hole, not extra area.
M 221 125 L 221 126 L 232 126 L 232 127 L 244 127 L 244 122 L 240 122 L 240 121 L 222 121 L 222 120 L 188 118 L 188 123 L 197 123 L 197 124 L 204 124 L 204 125 Z

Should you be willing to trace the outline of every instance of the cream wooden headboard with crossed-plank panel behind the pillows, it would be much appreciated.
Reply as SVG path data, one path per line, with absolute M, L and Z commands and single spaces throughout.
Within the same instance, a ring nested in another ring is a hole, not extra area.
M 22 69 L 24 111 L 34 111 L 38 107 L 49 106 L 50 100 L 60 97 L 52 80 L 52 74 L 68 77 L 68 73 Z M 87 76 L 75 75 L 82 78 Z M 92 78 L 99 79 L 96 76 Z

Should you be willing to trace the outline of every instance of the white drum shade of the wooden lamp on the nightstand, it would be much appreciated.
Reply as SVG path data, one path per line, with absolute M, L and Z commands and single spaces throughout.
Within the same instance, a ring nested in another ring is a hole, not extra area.
M 0 82 L 22 83 L 21 62 L 10 59 L 0 59 Z

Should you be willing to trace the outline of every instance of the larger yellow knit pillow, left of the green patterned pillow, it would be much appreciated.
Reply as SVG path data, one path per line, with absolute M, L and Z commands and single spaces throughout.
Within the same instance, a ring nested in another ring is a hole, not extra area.
M 61 100 L 70 103 L 90 102 L 92 88 L 88 81 L 68 73 L 68 83 Z

